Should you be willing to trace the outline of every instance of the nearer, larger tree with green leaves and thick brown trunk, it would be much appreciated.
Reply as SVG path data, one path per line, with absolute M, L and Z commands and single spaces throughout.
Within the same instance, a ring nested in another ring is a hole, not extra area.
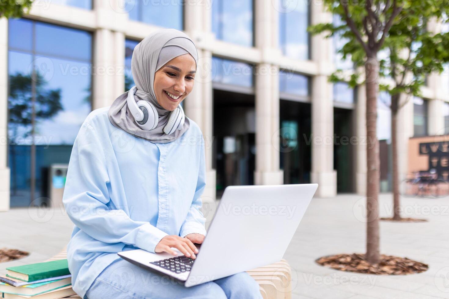
M 444 0 L 324 0 L 326 8 L 334 15 L 339 16 L 343 24 L 334 26 L 332 23 L 322 23 L 310 27 L 313 34 L 330 32 L 328 37 L 338 33 L 348 42 L 340 49 L 343 58 L 351 54 L 356 67 L 363 66 L 364 78 L 356 73 L 351 75 L 349 83 L 354 87 L 357 83 L 366 86 L 366 131 L 367 139 L 373 144 L 367 147 L 367 191 L 366 191 L 366 254 L 365 259 L 370 264 L 379 263 L 379 142 L 377 139 L 377 96 L 379 94 L 379 75 L 383 74 L 378 58 L 381 49 L 396 44 L 397 49 L 403 45 L 403 34 L 408 35 L 405 28 L 416 24 L 414 13 L 419 9 L 432 10 L 432 6 L 443 7 Z M 419 19 L 419 17 L 418 17 Z M 412 22 L 413 21 L 413 22 Z M 410 23 L 407 23 L 410 22 Z M 400 32 L 400 27 L 405 30 Z M 396 36 L 396 43 L 393 43 Z M 394 51 L 396 51 L 394 50 Z M 397 55 L 398 62 L 401 56 Z M 428 61 L 428 57 L 427 60 Z M 399 64 L 396 64 L 400 69 Z M 337 80 L 334 74 L 330 78 Z M 400 93 L 401 88 L 386 88 L 392 93 Z

